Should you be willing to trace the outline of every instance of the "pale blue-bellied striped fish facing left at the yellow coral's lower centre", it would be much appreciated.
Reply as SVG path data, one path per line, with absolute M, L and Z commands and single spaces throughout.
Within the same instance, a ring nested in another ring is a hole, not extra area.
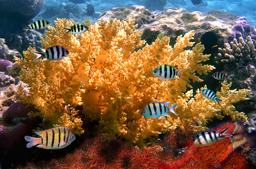
M 170 101 L 148 103 L 141 111 L 141 115 L 144 115 L 145 117 L 149 118 L 158 118 L 163 115 L 170 116 L 168 112 L 172 112 L 175 115 L 177 115 L 177 113 L 174 111 L 174 108 L 178 105 L 178 103 L 170 107 L 167 107 L 169 104 Z

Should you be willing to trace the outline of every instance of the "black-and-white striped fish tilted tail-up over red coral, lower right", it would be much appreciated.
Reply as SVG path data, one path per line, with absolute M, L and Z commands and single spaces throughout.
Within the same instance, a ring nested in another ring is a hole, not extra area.
M 226 134 L 226 132 L 228 131 L 229 127 L 225 128 L 223 131 L 221 131 L 220 133 L 218 133 L 220 131 L 216 130 L 216 131 L 205 131 L 205 132 L 201 132 L 199 133 L 192 141 L 193 145 L 196 146 L 207 146 L 207 145 L 211 145 L 214 142 L 217 142 L 221 139 L 223 139 L 223 137 L 230 137 L 232 136 L 232 134 Z

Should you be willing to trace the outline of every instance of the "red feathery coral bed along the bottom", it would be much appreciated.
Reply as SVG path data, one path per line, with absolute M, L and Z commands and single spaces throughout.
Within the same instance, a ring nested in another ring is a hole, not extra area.
M 228 133 L 235 127 L 233 123 L 222 127 L 231 126 Z M 51 156 L 50 160 L 32 160 L 26 165 L 17 168 L 160 168 L 160 169 L 185 169 L 185 168 L 253 168 L 247 163 L 245 156 L 234 149 L 229 138 L 224 138 L 206 147 L 191 145 L 192 134 L 187 135 L 182 129 L 174 129 L 168 136 L 164 136 L 158 143 L 144 149 L 113 138 L 103 141 L 106 135 L 100 134 L 94 138 L 87 138 L 80 142 L 80 146 L 65 156 L 56 158 L 61 152 L 45 154 Z M 77 140 L 76 140 L 77 141 Z M 77 142 L 76 142 L 77 144 Z M 42 154 L 41 154 L 42 155 Z M 42 158 L 45 157 L 42 155 Z

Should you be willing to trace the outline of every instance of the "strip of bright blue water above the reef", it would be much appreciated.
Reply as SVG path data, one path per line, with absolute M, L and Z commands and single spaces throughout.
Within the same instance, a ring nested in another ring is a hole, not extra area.
M 85 3 L 75 4 L 81 12 L 87 9 L 88 4 L 92 4 L 95 8 L 95 14 L 92 16 L 82 16 L 82 18 L 73 18 L 78 21 L 88 18 L 92 21 L 97 20 L 97 16 L 101 13 L 110 10 L 112 7 L 130 6 L 130 5 L 145 5 L 150 11 L 167 7 L 185 8 L 189 12 L 200 11 L 207 12 L 211 10 L 220 10 L 236 14 L 237 16 L 246 16 L 250 25 L 256 25 L 256 1 L 255 0 L 202 0 L 204 3 L 193 4 L 191 0 L 166 0 L 167 3 L 162 6 L 158 1 L 161 0 L 85 0 Z M 153 2 L 156 4 L 152 4 Z M 44 8 L 47 6 L 63 4 L 74 4 L 68 0 L 45 0 Z M 43 12 L 42 10 L 42 12 Z M 52 11 L 54 12 L 54 11 Z M 40 16 L 40 14 L 39 14 Z M 54 14 L 52 15 L 54 16 Z

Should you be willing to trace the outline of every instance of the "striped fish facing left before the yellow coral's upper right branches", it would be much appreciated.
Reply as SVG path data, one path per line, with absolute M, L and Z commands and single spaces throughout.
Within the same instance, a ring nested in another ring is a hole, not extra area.
M 156 67 L 153 71 L 152 71 L 152 74 L 159 78 L 159 79 L 162 79 L 162 80 L 170 80 L 170 79 L 176 79 L 176 75 L 179 75 L 181 76 L 182 78 L 184 78 L 182 75 L 181 75 L 181 70 L 179 71 L 176 71 L 177 67 L 173 67 L 173 66 L 170 66 L 168 64 L 162 64 L 162 65 L 159 65 L 158 67 Z

